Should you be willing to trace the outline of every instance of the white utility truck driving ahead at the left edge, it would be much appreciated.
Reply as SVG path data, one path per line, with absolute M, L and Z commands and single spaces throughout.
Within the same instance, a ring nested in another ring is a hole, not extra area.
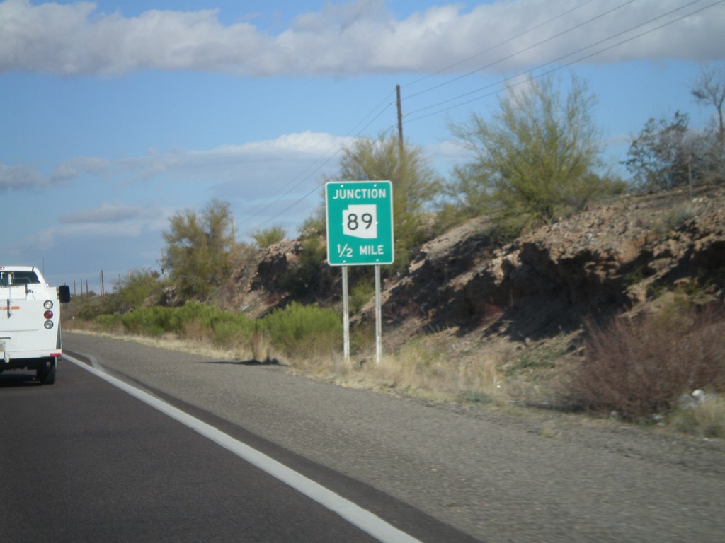
M 41 384 L 53 384 L 62 355 L 60 304 L 70 287 L 49 286 L 33 266 L 0 266 L 0 373 L 36 371 Z

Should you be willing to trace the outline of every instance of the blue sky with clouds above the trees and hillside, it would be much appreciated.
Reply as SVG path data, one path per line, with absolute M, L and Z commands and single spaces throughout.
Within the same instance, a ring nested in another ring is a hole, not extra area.
M 351 138 L 395 129 L 395 85 L 446 176 L 450 122 L 523 74 L 574 74 L 616 166 L 650 117 L 711 122 L 689 90 L 723 35 L 718 0 L 4 0 L 0 264 L 109 290 L 212 198 L 239 240 L 295 237 Z

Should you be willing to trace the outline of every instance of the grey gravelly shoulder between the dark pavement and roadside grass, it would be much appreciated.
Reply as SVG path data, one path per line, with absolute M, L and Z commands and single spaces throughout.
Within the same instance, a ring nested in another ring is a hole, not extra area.
M 484 542 L 721 542 L 725 444 L 353 390 L 64 332 L 64 347 Z M 59 368 L 62 379 L 62 366 Z M 92 406 L 91 406 L 92 407 Z

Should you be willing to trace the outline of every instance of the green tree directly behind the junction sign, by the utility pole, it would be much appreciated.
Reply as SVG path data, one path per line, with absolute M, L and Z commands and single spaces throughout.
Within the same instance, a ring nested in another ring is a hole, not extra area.
M 410 250 L 426 237 L 425 213 L 442 188 L 422 148 L 401 146 L 389 133 L 357 139 L 344 150 L 340 170 L 331 180 L 392 182 L 396 264 L 407 265 Z

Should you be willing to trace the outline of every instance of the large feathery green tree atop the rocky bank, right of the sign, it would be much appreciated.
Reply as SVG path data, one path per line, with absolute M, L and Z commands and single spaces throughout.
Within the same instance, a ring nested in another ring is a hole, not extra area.
M 615 190 L 602 167 L 596 100 L 572 77 L 566 96 L 551 77 L 511 85 L 491 119 L 472 114 L 450 129 L 471 153 L 448 194 L 462 216 L 487 214 L 507 237 L 582 209 Z

